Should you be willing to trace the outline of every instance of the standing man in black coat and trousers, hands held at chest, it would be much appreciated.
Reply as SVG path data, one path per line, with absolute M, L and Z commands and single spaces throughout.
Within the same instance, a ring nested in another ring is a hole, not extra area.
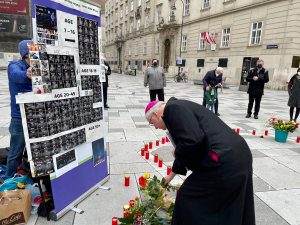
M 246 81 L 249 82 L 249 103 L 246 118 L 251 117 L 253 102 L 255 100 L 254 119 L 258 119 L 261 98 L 264 94 L 265 83 L 269 82 L 269 72 L 264 67 L 264 61 L 258 60 L 256 68 L 250 70 Z

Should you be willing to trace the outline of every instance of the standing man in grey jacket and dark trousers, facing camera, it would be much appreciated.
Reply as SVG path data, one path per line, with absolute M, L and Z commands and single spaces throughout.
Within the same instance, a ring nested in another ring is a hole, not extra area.
M 164 87 L 166 84 L 166 75 L 162 67 L 158 66 L 157 59 L 152 60 L 152 65 L 145 71 L 144 86 L 149 85 L 150 102 L 156 100 L 156 95 L 159 101 L 165 100 Z

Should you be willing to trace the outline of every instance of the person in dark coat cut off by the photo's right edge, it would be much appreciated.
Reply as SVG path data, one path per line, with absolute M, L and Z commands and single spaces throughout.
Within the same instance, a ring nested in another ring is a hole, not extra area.
M 292 76 L 290 82 L 288 82 L 288 93 L 289 101 L 288 106 L 290 107 L 290 121 L 296 122 L 300 113 L 300 68 L 297 73 Z M 293 119 L 294 109 L 296 108 L 296 114 Z

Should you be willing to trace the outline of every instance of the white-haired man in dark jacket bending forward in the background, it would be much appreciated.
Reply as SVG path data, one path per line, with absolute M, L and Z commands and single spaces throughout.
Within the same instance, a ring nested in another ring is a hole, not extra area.
M 221 87 L 222 84 L 222 76 L 223 76 L 223 68 L 218 67 L 215 70 L 210 70 L 206 73 L 205 77 L 203 78 L 203 103 L 202 105 L 206 107 L 206 96 L 205 96 L 205 91 L 209 91 L 209 82 L 213 81 L 216 84 L 216 91 L 218 90 L 218 87 Z M 219 101 L 218 98 L 216 99 L 215 103 L 215 114 L 217 116 L 220 116 L 218 113 L 218 106 L 219 106 Z

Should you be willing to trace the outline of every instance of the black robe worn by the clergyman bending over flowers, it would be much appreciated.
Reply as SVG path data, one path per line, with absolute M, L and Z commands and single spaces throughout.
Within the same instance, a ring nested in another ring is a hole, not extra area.
M 252 155 L 245 140 L 190 101 L 171 98 L 162 118 L 176 144 L 172 171 L 193 171 L 178 191 L 172 225 L 255 225 Z

